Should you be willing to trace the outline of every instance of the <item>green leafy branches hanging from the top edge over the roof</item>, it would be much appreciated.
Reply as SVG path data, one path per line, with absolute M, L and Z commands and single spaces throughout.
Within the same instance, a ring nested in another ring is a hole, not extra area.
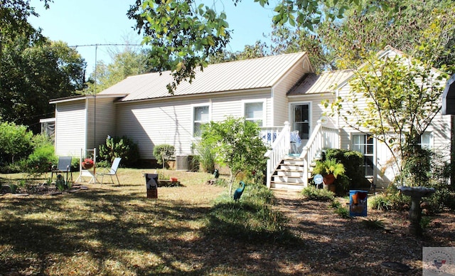
M 239 0 L 234 0 L 236 4 Z M 261 6 L 267 0 L 257 0 Z M 303 26 L 313 29 L 325 19 L 341 18 L 349 5 L 362 9 L 360 0 L 345 1 L 304 0 L 282 1 L 274 11 L 273 23 Z M 368 1 L 368 10 L 383 9 L 389 1 Z M 174 81 L 169 92 L 183 80 L 191 82 L 196 68 L 203 69 L 208 57 L 223 51 L 230 41 L 226 14 L 217 14 L 215 8 L 196 4 L 194 0 L 137 0 L 130 6 L 128 17 L 137 21 L 137 30 L 144 33 L 144 43 L 151 44 L 151 64 L 159 71 L 173 71 Z

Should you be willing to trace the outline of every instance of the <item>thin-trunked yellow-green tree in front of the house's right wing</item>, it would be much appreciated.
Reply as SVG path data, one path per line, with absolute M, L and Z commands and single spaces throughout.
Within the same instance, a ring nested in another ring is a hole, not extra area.
M 361 60 L 363 65 L 349 81 L 350 92 L 332 104 L 349 127 L 373 135 L 390 149 L 399 179 L 411 181 L 407 184 L 422 185 L 428 178 L 422 165 L 427 154 L 419 139 L 439 114 L 445 81 L 453 73 L 453 67 L 441 60 L 447 60 L 446 49 L 455 33 L 455 24 L 446 15 L 454 13 L 451 7 L 431 11 L 432 21 L 419 31 L 412 57 L 372 57 L 368 46 L 353 47 L 349 53 L 358 58 L 348 55 L 346 60 L 354 64 Z

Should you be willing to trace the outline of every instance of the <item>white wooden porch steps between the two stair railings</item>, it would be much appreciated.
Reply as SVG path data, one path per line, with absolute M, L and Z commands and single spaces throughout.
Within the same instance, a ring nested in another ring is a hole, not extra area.
M 277 169 L 272 174 L 272 181 L 270 183 L 271 189 L 288 190 L 288 191 L 301 191 L 308 183 L 304 179 L 305 165 L 304 159 L 294 156 L 286 156 L 279 163 Z

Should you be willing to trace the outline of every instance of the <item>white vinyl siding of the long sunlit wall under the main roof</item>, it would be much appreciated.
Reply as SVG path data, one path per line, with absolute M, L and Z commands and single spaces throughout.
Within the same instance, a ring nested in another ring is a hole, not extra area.
M 139 145 L 141 159 L 154 159 L 154 146 L 172 144 L 176 154 L 191 154 L 194 107 L 209 107 L 209 120 L 220 122 L 227 116 L 243 117 L 246 101 L 268 102 L 267 91 L 251 95 L 213 95 L 186 100 L 151 100 L 117 105 L 117 135 L 127 135 Z M 268 104 L 264 104 L 267 108 Z M 267 110 L 264 110 L 267 113 Z

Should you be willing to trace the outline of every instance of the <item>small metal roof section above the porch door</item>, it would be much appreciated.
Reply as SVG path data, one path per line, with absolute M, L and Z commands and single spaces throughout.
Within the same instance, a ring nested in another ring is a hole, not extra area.
M 326 71 L 320 75 L 306 74 L 289 92 L 288 96 L 331 92 L 353 75 L 353 70 Z

